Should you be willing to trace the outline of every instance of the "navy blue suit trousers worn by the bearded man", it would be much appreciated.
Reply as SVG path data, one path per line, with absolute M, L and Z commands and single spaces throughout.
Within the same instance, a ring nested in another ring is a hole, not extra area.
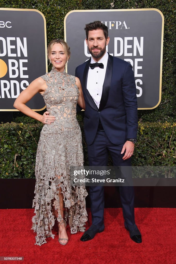
M 107 166 L 108 150 L 111 153 L 114 166 L 131 166 L 131 158 L 123 160 L 125 153 L 121 154 L 123 144 L 115 145 L 110 142 L 104 131 L 97 131 L 96 138 L 91 145 L 87 145 L 89 166 Z M 132 175 L 131 175 L 132 177 Z M 134 229 L 134 188 L 133 186 L 120 186 L 120 198 L 125 224 Z M 90 186 L 92 224 L 103 225 L 104 220 L 104 187 Z

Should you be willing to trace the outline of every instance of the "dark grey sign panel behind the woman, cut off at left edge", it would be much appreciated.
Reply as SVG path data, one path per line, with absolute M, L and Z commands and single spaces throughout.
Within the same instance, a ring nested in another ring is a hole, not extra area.
M 47 72 L 46 21 L 34 9 L 0 8 L 0 111 L 18 111 L 13 103 L 34 79 Z M 42 110 L 36 94 L 28 103 Z

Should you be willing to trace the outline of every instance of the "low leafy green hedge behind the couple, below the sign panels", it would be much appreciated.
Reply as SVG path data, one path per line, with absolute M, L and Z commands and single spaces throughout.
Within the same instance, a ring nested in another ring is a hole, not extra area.
M 78 115 L 83 131 L 83 116 Z M 35 156 L 43 124 L 6 123 L 0 125 L 0 178 L 34 178 Z M 176 158 L 176 123 L 139 124 L 138 140 L 132 156 L 133 166 L 174 166 Z M 85 165 L 87 148 L 83 136 Z M 109 166 L 112 165 L 109 158 Z

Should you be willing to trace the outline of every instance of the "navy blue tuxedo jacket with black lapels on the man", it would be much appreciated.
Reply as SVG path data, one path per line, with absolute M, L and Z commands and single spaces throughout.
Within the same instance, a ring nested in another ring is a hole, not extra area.
M 108 139 L 123 144 L 137 136 L 137 97 L 134 73 L 130 63 L 108 54 L 108 63 L 99 109 L 87 90 L 87 76 L 91 59 L 76 68 L 84 100 L 84 133 L 88 145 L 96 136 L 99 119 Z

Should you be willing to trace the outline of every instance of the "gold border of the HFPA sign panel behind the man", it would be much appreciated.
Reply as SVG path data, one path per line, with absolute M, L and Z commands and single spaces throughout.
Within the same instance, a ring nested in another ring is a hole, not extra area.
M 111 12 L 117 12 L 117 11 L 156 11 L 158 13 L 160 13 L 161 17 L 162 17 L 162 29 L 161 29 L 161 59 L 160 59 L 160 85 L 159 85 L 159 101 L 158 103 L 151 108 L 138 108 L 138 110 L 147 110 L 147 109 L 154 109 L 156 108 L 160 102 L 161 102 L 161 86 L 162 86 L 162 63 L 163 63 L 163 36 L 164 36 L 164 16 L 163 13 L 157 9 L 157 8 L 136 8 L 136 9 L 103 9 L 103 10 L 72 10 L 70 12 L 68 12 L 64 18 L 64 40 L 66 41 L 66 18 L 70 15 L 70 13 L 73 12 L 107 12 L 107 11 L 111 11 Z M 67 65 L 65 67 L 65 70 L 67 72 Z

